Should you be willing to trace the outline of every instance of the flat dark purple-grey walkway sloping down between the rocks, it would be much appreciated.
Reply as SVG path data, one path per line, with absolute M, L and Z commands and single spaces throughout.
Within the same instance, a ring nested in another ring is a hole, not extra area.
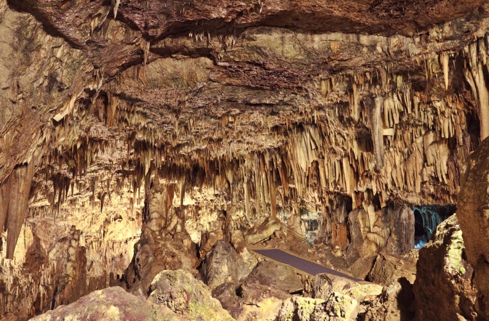
M 264 250 L 252 250 L 252 251 L 256 252 L 260 255 L 269 257 L 269 258 L 276 260 L 278 262 L 290 265 L 290 266 L 292 266 L 292 268 L 295 268 L 295 269 L 300 270 L 300 271 L 304 271 L 310 275 L 316 275 L 319 273 L 328 273 L 328 274 L 332 274 L 332 275 L 339 276 L 342 278 L 350 279 L 350 280 L 353 280 L 356 282 L 365 282 L 364 280 L 356 279 L 354 277 L 340 273 L 338 271 L 328 269 L 325 266 L 322 266 L 320 264 L 305 260 L 303 258 L 289 254 L 289 253 L 284 252 L 282 250 L 264 249 Z

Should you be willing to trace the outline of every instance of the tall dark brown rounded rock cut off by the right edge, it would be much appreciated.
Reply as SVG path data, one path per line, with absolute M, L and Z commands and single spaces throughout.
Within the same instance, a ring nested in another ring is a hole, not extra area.
M 471 155 L 458 197 L 457 219 L 474 269 L 479 315 L 489 318 L 489 139 Z

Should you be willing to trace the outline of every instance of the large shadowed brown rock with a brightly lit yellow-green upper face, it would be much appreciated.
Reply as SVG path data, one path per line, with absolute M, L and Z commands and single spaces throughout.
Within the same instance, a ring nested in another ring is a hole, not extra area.
M 419 251 L 414 283 L 416 319 L 476 320 L 474 270 L 466 261 L 462 231 L 452 215 Z

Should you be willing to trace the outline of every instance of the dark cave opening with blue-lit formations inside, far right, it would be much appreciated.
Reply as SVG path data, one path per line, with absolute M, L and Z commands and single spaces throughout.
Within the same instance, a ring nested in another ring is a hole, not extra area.
M 413 207 L 414 247 L 421 249 L 436 231 L 437 226 L 455 213 L 455 205 L 420 205 Z

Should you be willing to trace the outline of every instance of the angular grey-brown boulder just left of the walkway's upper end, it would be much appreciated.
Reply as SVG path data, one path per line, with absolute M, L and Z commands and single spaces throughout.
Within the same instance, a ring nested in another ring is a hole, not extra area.
M 200 273 L 211 289 L 223 283 L 238 283 L 254 266 L 248 265 L 230 243 L 219 240 L 202 261 Z

